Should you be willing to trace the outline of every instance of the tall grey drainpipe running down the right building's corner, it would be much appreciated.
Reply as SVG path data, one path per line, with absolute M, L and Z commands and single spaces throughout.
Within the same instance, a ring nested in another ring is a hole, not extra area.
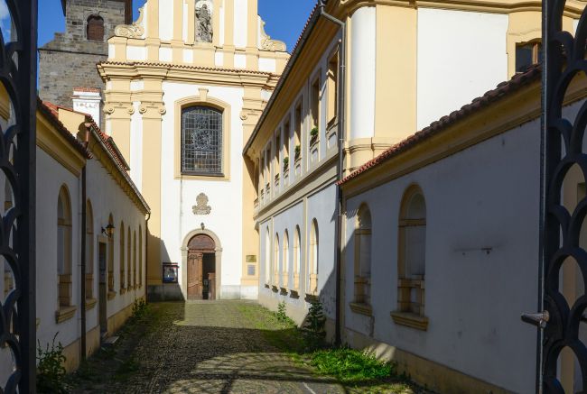
M 338 95 L 338 116 L 339 116 L 339 162 L 337 164 L 338 181 L 344 176 L 344 144 L 345 144 L 345 110 L 346 110 L 346 61 L 347 61 L 347 23 L 340 21 L 331 14 L 328 14 L 324 7 L 327 0 L 320 0 L 320 15 L 340 26 L 340 62 L 339 62 L 339 95 Z M 334 343 L 340 345 L 340 296 L 341 296 L 341 249 L 342 249 L 342 190 L 339 182 L 336 188 L 336 325 L 334 331 Z

